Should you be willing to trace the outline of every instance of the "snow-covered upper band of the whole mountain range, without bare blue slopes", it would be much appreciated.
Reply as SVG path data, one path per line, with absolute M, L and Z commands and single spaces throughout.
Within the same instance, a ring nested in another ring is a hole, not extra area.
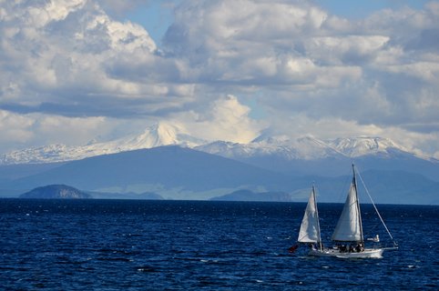
M 274 157 L 277 160 L 285 161 L 312 161 L 323 158 L 357 158 L 377 155 L 391 157 L 394 153 L 416 156 L 392 140 L 381 137 L 320 140 L 312 136 L 292 139 L 285 135 L 262 135 L 249 144 L 237 144 L 226 141 L 201 140 L 189 135 L 179 126 L 159 123 L 148 127 L 140 135 L 128 135 L 109 142 L 95 142 L 86 146 L 41 146 L 10 152 L 0 156 L 0 165 L 66 162 L 90 156 L 171 145 L 194 148 L 209 154 L 241 161 L 261 157 Z M 428 160 L 428 157 L 417 157 Z

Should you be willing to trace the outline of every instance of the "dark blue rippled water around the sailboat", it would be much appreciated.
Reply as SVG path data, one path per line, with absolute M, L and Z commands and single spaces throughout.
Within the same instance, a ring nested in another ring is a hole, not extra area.
M 0 200 L 2 290 L 439 288 L 439 207 L 379 206 L 397 251 L 294 254 L 304 204 Z M 320 206 L 331 236 L 341 205 Z M 364 229 L 385 233 L 363 210 Z M 376 226 L 376 227 L 375 227 Z M 326 239 L 326 238 L 325 238 Z

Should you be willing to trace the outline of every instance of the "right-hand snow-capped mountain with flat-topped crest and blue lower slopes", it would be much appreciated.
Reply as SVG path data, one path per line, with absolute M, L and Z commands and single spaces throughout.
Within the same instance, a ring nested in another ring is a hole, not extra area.
M 291 176 L 342 176 L 352 161 L 362 170 L 399 170 L 437 179 L 439 161 L 380 137 L 319 140 L 257 138 L 247 145 L 213 142 L 195 149 Z

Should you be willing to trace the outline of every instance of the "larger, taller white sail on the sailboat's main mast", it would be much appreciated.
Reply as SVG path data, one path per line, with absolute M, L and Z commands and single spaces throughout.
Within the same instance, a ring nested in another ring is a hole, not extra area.
M 349 188 L 349 194 L 344 203 L 342 216 L 332 234 L 333 241 L 362 242 L 362 221 L 360 206 L 355 186 L 355 179 Z

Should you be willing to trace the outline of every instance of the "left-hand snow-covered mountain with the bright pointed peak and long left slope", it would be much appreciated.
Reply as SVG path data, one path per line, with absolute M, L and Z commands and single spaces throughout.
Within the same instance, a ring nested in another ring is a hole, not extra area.
M 127 152 L 141 148 L 179 145 L 194 147 L 206 141 L 187 135 L 182 128 L 160 123 L 148 127 L 140 135 L 128 135 L 109 142 L 86 146 L 51 145 L 18 150 L 0 156 L 0 165 L 56 163 Z

